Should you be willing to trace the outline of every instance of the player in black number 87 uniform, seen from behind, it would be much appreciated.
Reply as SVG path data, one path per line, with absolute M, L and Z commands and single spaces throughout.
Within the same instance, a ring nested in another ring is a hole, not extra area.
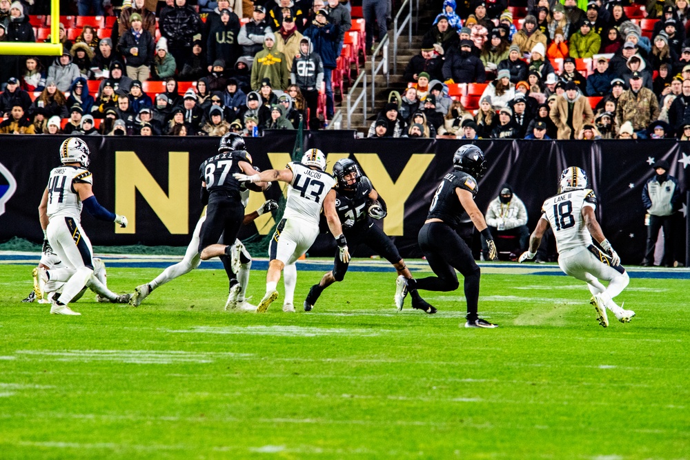
M 201 203 L 206 208 L 206 221 L 199 234 L 201 260 L 220 257 L 228 273 L 230 284 L 235 283 L 231 268 L 231 250 L 237 233 L 244 221 L 242 190 L 246 184 L 235 179 L 233 174 L 256 174 L 252 157 L 246 151 L 244 139 L 239 134 L 228 132 L 218 146 L 218 154 L 210 157 L 199 167 L 201 175 Z M 249 184 L 248 188 L 261 191 L 268 187 L 265 182 Z M 223 236 L 223 244 L 218 241 Z M 230 286 L 232 287 L 232 286 Z

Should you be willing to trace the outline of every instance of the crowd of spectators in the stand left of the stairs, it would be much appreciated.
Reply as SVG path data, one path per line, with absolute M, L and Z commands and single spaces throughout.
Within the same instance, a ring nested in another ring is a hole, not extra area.
M 78 0 L 80 15 L 117 19 L 107 34 L 86 25 L 74 40 L 72 25 L 61 23 L 59 57 L 0 56 L 0 133 L 319 129 L 323 86 L 324 115 L 333 117 L 331 72 L 351 28 L 347 0 L 120 2 L 113 10 L 107 0 Z M 37 41 L 34 8 L 0 0 L 0 41 Z M 162 90 L 147 92 L 147 81 Z M 193 85 L 180 92 L 179 82 Z

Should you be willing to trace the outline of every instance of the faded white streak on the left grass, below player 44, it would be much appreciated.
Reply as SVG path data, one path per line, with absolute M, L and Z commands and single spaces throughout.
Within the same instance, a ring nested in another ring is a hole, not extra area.
M 17 350 L 28 357 L 43 357 L 53 361 L 116 361 L 132 364 L 213 363 L 223 358 L 248 358 L 250 353 L 185 352 L 152 350 Z

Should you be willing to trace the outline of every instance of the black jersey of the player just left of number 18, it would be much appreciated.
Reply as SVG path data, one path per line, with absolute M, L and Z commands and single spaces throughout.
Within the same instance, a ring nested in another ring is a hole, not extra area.
M 441 219 L 453 228 L 460 226 L 465 210 L 457 199 L 456 188 L 472 192 L 473 197 L 479 190 L 476 179 L 470 174 L 462 171 L 449 172 L 443 177 L 433 195 L 427 219 Z

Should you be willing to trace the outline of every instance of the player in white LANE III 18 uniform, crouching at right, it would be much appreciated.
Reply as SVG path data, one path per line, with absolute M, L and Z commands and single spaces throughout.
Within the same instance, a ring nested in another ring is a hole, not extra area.
M 607 328 L 607 308 L 621 323 L 628 323 L 635 312 L 624 310 L 613 301 L 628 286 L 630 278 L 604 237 L 594 214 L 596 206 L 597 199 L 594 191 L 587 188 L 584 170 L 576 166 L 564 170 L 559 194 L 544 201 L 542 217 L 529 240 L 529 250 L 518 261 L 522 263 L 535 256 L 544 232 L 551 226 L 558 248 L 558 266 L 565 274 L 587 283 L 592 293 L 589 302 L 597 312 L 600 325 Z M 592 238 L 604 252 L 594 246 Z M 609 286 L 600 280 L 609 281 Z

